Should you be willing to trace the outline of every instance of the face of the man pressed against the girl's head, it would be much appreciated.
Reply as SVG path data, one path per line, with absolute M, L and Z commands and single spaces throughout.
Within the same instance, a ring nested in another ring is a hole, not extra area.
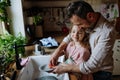
M 81 28 L 89 28 L 90 27 L 90 22 L 88 20 L 82 19 L 76 15 L 73 15 L 70 18 L 70 21 L 73 25 L 76 25 L 76 26 L 81 27 Z

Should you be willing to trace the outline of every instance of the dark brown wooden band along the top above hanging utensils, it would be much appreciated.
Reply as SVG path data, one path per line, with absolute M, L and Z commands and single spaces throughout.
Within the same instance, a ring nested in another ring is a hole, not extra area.
M 24 0 L 23 5 L 24 8 L 30 8 L 32 6 L 38 6 L 38 7 L 61 7 L 66 6 L 68 3 L 71 2 L 71 0 L 56 0 L 56 1 L 30 1 L 30 0 Z

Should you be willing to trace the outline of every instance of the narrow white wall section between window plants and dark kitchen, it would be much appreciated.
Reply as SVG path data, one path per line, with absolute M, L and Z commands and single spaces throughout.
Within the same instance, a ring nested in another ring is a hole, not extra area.
M 25 36 L 23 11 L 22 11 L 22 0 L 10 0 L 11 6 L 9 7 L 9 17 L 12 20 L 12 31 L 15 36 L 19 32 Z

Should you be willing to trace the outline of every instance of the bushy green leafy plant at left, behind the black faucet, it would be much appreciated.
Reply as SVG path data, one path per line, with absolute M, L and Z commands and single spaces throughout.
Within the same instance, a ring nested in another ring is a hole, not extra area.
M 15 49 L 13 46 L 21 45 L 26 43 L 25 37 L 23 37 L 20 33 L 17 37 L 11 34 L 3 34 L 0 35 L 0 74 L 5 73 L 5 69 L 7 66 L 15 61 Z M 18 49 L 18 53 L 24 53 L 24 48 L 21 47 Z

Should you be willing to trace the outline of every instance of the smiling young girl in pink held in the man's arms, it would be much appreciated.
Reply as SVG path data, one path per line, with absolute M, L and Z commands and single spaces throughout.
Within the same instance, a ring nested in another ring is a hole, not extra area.
M 79 65 L 90 57 L 89 35 L 85 29 L 73 26 L 70 36 L 72 40 L 65 50 L 65 55 L 68 58 L 65 63 Z M 77 74 L 77 78 L 78 75 L 78 80 L 93 80 L 91 74 Z

